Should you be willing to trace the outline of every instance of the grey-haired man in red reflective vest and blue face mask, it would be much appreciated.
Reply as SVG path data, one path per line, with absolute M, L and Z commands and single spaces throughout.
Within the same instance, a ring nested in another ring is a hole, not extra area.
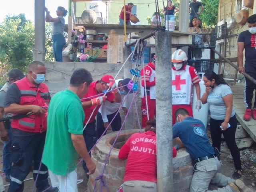
M 30 172 L 34 161 L 33 177 L 36 180 L 36 192 L 50 187 L 48 184 L 48 168 L 40 162 L 46 137 L 46 111 L 50 94 L 44 84 L 46 68 L 42 62 L 33 61 L 28 66 L 28 75 L 10 85 L 4 100 L 4 112 L 14 115 L 30 116 L 12 120 L 12 169 L 8 192 L 22 192 L 24 179 Z M 40 167 L 40 169 L 39 169 Z M 47 192 L 58 192 L 58 188 L 50 188 Z

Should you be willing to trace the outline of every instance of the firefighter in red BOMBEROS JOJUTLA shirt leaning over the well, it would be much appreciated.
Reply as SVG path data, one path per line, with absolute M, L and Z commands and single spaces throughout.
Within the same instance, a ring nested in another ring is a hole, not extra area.
M 172 148 L 172 157 L 177 150 Z M 127 159 L 123 192 L 156 192 L 156 120 L 146 122 L 144 133 L 135 133 L 119 151 L 118 158 Z

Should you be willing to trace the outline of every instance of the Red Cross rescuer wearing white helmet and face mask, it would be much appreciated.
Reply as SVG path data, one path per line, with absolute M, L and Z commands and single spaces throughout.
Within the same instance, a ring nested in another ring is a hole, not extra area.
M 181 49 L 176 50 L 172 54 L 172 124 L 175 124 L 175 112 L 178 108 L 184 108 L 193 116 L 193 85 L 196 88 L 197 104 L 196 109 L 202 106 L 200 99 L 200 78 L 196 69 L 186 65 L 187 55 Z

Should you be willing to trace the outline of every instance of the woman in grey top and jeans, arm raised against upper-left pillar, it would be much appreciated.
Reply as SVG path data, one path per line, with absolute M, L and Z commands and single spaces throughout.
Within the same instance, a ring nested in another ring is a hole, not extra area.
M 54 59 L 56 62 L 62 62 L 62 50 L 64 45 L 66 44 L 66 40 L 64 38 L 64 17 L 67 15 L 68 11 L 64 7 L 58 7 L 56 11 L 58 17 L 52 18 L 52 16 L 50 16 L 48 8 L 45 7 L 44 9 L 46 12 L 45 21 L 52 23 L 52 48 L 54 53 Z

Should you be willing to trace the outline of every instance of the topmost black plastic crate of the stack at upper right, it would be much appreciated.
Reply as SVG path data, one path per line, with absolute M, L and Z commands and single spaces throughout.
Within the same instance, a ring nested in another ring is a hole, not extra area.
M 197 33 L 192 36 L 192 44 L 194 48 L 215 48 L 216 38 L 215 33 Z

